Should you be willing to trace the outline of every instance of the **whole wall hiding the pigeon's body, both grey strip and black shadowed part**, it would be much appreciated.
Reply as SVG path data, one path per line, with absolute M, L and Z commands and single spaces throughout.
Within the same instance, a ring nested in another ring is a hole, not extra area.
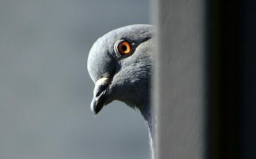
M 256 159 L 256 3 L 157 0 L 158 159 Z

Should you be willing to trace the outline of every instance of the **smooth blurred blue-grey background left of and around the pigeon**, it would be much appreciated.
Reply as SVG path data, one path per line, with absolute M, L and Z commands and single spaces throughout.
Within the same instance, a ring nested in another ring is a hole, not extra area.
M 149 23 L 148 0 L 0 0 L 0 159 L 149 159 L 139 112 L 96 118 L 87 55 L 99 36 Z

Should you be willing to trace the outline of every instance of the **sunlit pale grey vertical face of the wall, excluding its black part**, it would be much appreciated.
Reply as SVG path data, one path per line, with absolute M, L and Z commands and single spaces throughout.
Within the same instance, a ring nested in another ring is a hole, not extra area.
M 158 0 L 157 159 L 203 159 L 203 0 Z

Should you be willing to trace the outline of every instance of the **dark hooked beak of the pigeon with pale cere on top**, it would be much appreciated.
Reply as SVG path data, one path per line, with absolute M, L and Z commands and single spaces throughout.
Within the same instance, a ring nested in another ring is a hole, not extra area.
M 93 116 L 98 114 L 98 112 L 105 105 L 104 95 L 109 85 L 109 81 L 110 81 L 109 78 L 104 77 L 104 78 L 98 79 L 98 81 L 95 83 L 95 87 L 93 90 L 93 98 L 90 103 L 90 110 Z

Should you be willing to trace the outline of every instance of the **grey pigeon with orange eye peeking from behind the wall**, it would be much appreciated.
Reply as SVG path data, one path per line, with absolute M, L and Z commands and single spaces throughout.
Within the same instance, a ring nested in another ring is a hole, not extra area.
M 90 109 L 95 116 L 114 100 L 139 110 L 149 129 L 152 159 L 155 158 L 155 115 L 151 107 L 155 27 L 148 24 L 117 28 L 91 47 L 87 69 L 95 83 Z

